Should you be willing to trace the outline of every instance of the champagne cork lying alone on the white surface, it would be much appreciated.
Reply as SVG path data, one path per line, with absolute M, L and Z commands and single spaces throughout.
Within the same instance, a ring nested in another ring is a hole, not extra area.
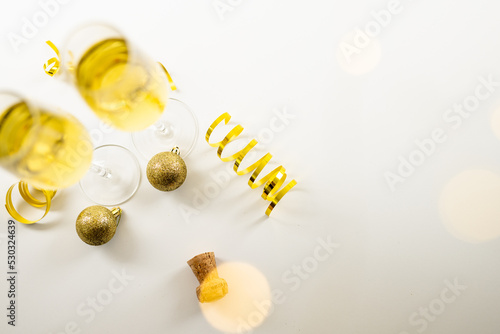
M 228 293 L 227 282 L 217 272 L 213 252 L 199 254 L 187 263 L 200 283 L 196 288 L 200 303 L 219 300 Z

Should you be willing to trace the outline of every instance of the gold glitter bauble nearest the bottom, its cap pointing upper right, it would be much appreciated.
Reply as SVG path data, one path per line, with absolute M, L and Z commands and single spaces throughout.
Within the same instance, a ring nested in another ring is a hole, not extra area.
M 76 219 L 76 232 L 89 245 L 103 245 L 115 235 L 120 215 L 120 208 L 111 211 L 100 205 L 90 206 Z

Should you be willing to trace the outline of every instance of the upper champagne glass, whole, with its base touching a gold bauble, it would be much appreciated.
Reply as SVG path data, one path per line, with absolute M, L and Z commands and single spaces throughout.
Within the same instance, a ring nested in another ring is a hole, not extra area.
M 134 132 L 144 158 L 174 146 L 184 157 L 192 150 L 198 123 L 189 107 L 169 98 L 168 72 L 115 28 L 91 24 L 76 30 L 65 44 L 61 68 L 99 118 Z

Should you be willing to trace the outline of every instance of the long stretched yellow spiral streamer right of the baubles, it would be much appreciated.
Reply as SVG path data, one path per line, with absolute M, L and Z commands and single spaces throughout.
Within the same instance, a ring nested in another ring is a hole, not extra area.
M 241 162 L 243 161 L 245 156 L 257 145 L 258 142 L 256 139 L 252 139 L 250 143 L 248 143 L 241 151 L 236 152 L 235 154 L 230 155 L 228 157 L 222 157 L 222 152 L 224 151 L 224 148 L 230 142 L 236 139 L 241 134 L 241 132 L 243 132 L 244 128 L 239 124 L 236 125 L 231 131 L 229 131 L 229 133 L 224 137 L 223 140 L 216 143 L 210 142 L 210 136 L 212 135 L 214 129 L 222 121 L 224 121 L 224 123 L 227 124 L 230 119 L 231 115 L 229 115 L 228 113 L 220 115 L 208 128 L 207 133 L 205 135 L 205 140 L 210 146 L 218 147 L 217 156 L 222 161 L 224 162 L 232 160 L 235 161 L 233 169 L 237 175 L 245 175 L 253 171 L 252 175 L 250 176 L 250 180 L 248 181 L 248 185 L 250 186 L 250 188 L 255 189 L 265 184 L 264 191 L 262 193 L 262 198 L 271 202 L 271 204 L 269 204 L 266 210 L 266 215 L 269 216 L 273 211 L 273 209 L 278 204 L 278 202 L 283 198 L 283 196 L 285 196 L 290 191 L 290 189 L 292 189 L 297 184 L 297 181 L 295 180 L 290 181 L 283 189 L 281 189 L 278 192 L 281 186 L 285 183 L 287 177 L 286 169 L 283 166 L 279 166 L 256 182 L 257 178 L 259 177 L 264 167 L 266 167 L 266 165 L 269 163 L 269 161 L 271 161 L 273 157 L 270 153 L 266 153 L 262 158 L 257 160 L 249 167 L 241 171 L 238 171 L 238 168 L 240 167 Z

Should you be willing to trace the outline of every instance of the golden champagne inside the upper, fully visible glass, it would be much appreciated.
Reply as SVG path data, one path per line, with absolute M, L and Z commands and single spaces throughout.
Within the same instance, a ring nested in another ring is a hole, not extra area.
M 102 120 L 124 131 L 143 130 L 158 120 L 168 98 L 158 66 L 132 56 L 123 39 L 106 39 L 85 52 L 76 84 Z

